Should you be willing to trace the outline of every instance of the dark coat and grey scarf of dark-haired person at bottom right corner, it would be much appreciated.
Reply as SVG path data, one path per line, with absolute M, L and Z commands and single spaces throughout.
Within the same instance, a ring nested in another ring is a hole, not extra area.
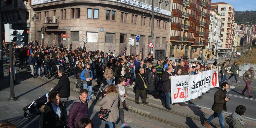
M 244 121 L 245 117 L 238 115 L 235 111 L 226 117 L 226 122 L 229 125 L 228 128 L 243 128 Z

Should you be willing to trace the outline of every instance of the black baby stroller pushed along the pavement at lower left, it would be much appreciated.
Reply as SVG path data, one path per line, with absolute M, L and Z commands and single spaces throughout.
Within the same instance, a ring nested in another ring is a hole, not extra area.
M 28 104 L 26 107 L 24 107 L 22 110 L 23 112 L 23 118 L 28 119 L 29 116 L 36 115 L 42 115 L 40 112 L 40 107 L 47 103 L 49 93 L 45 94 L 44 96 L 39 97 L 38 99 L 33 100 L 30 104 Z M 29 111 L 27 113 L 26 111 Z

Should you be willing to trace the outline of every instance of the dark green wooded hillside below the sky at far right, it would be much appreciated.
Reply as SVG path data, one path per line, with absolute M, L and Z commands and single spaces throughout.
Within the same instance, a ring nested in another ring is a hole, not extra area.
M 256 11 L 235 11 L 235 19 L 237 25 L 255 25 L 256 24 Z

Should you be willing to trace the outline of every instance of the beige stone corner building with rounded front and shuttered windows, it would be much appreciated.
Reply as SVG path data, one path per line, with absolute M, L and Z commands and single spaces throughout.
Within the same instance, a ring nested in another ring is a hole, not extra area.
M 155 0 L 153 55 L 156 59 L 164 58 L 166 42 L 170 39 L 170 2 Z M 151 3 L 152 0 L 33 0 L 31 13 L 38 16 L 36 40 L 44 46 L 59 46 L 60 42 L 65 46 L 72 44 L 74 50 L 84 46 L 82 36 L 85 36 L 88 38 L 86 49 L 91 51 L 116 50 L 117 54 L 123 50 L 127 54 L 143 51 L 145 58 L 150 52 Z M 33 22 L 31 31 L 34 31 Z M 62 38 L 64 33 L 66 41 Z M 135 43 L 137 35 L 140 36 L 138 46 Z M 130 37 L 135 40 L 132 48 L 128 44 Z

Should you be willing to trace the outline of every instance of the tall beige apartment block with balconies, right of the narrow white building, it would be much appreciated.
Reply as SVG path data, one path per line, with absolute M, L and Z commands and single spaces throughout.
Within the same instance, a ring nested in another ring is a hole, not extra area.
M 234 15 L 235 9 L 232 4 L 225 2 L 218 2 L 211 4 L 211 10 L 220 15 L 221 23 L 221 37 L 222 47 L 219 50 L 219 55 L 223 57 L 230 57 L 233 48 L 234 40 Z

